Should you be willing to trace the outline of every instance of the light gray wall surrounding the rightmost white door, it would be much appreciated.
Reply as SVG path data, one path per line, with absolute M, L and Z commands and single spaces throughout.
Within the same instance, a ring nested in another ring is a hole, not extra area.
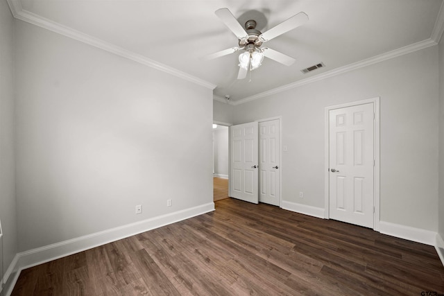
M 282 116 L 282 199 L 323 208 L 324 108 L 380 96 L 381 220 L 436 232 L 437 60 L 433 46 L 240 104 L 231 123 Z

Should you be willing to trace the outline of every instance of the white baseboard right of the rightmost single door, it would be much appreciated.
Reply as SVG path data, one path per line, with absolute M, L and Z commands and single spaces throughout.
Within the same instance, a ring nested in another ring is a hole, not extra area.
M 436 232 L 385 221 L 379 223 L 379 232 L 425 245 L 435 245 L 436 243 Z

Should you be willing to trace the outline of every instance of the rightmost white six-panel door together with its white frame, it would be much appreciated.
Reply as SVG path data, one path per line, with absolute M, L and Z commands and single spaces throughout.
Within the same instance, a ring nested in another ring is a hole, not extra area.
M 379 228 L 379 98 L 325 108 L 325 218 Z

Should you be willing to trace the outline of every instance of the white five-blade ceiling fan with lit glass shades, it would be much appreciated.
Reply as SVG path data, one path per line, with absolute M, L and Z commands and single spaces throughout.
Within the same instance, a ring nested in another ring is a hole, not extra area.
M 262 64 L 264 57 L 271 58 L 271 60 L 275 60 L 286 66 L 293 64 L 295 59 L 268 47 L 261 48 L 262 43 L 287 33 L 298 26 L 302 26 L 308 21 L 308 16 L 305 12 L 299 12 L 297 15 L 293 15 L 293 17 L 290 17 L 286 21 L 282 21 L 282 23 L 270 30 L 261 33 L 256 30 L 256 21 L 253 19 L 246 21 L 245 28 L 243 28 L 228 8 L 220 8 L 214 13 L 216 13 L 219 19 L 223 21 L 223 24 L 237 36 L 239 46 L 212 53 L 211 55 L 207 55 L 206 58 L 219 58 L 223 55 L 244 50 L 244 52 L 239 55 L 239 73 L 237 79 L 246 78 L 248 71 L 257 69 Z

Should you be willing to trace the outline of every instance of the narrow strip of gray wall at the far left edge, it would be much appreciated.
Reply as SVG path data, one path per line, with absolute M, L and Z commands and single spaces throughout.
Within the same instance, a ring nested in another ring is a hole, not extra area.
M 3 227 L 3 270 L 17 254 L 14 153 L 14 19 L 0 1 L 0 219 Z M 1 256 L 1 254 L 0 254 Z M 0 266 L 1 271 L 1 266 Z M 0 277 L 1 283 L 1 277 Z

